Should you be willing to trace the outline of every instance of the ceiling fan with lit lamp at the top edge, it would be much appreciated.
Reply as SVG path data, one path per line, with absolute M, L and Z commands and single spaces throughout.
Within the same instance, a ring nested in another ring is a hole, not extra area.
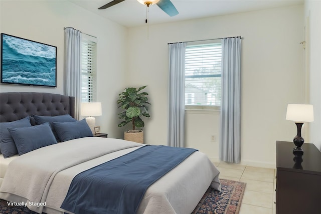
M 125 0 L 114 0 L 98 9 L 99 10 L 106 9 L 118 3 L 121 3 L 123 1 Z M 179 14 L 179 12 L 176 10 L 175 6 L 170 0 L 137 0 L 137 1 L 143 5 L 146 5 L 147 7 L 149 7 L 150 5 L 156 4 L 159 8 L 161 8 L 165 13 L 167 13 L 171 17 L 174 17 Z

